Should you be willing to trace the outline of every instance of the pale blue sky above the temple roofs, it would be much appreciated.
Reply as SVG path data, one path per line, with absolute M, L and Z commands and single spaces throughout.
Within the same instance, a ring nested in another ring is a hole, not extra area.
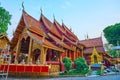
M 8 35 L 16 29 L 22 15 L 22 1 L 25 11 L 36 19 L 43 14 L 53 21 L 53 14 L 61 24 L 62 20 L 80 40 L 100 37 L 103 29 L 120 22 L 120 0 L 0 0 L 2 7 L 12 15 Z M 106 42 L 103 37 L 104 43 Z

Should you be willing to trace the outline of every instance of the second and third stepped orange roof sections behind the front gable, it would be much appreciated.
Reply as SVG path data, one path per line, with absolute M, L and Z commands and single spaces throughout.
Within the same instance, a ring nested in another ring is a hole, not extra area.
M 72 50 L 72 46 L 68 45 L 68 43 L 71 45 L 76 45 L 75 42 L 73 42 L 69 38 L 65 37 L 65 35 L 67 35 L 67 34 L 65 33 L 64 28 L 62 28 L 61 25 L 55 19 L 54 19 L 54 22 L 52 23 L 42 14 L 40 22 L 42 22 L 43 25 L 45 26 L 45 28 L 47 30 L 47 35 L 53 41 L 55 41 L 53 43 L 58 43 L 62 47 L 65 47 L 70 50 Z M 55 35 L 57 35 L 57 36 L 55 36 Z M 64 40 L 67 40 L 67 42 L 64 42 Z

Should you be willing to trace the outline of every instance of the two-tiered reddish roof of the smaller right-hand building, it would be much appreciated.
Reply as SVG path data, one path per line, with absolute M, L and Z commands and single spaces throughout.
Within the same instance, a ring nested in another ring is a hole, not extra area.
M 99 53 L 105 53 L 101 37 L 94 38 L 94 39 L 81 40 L 79 41 L 79 43 L 85 45 L 86 48 L 84 49 L 84 53 L 92 53 L 94 47 Z

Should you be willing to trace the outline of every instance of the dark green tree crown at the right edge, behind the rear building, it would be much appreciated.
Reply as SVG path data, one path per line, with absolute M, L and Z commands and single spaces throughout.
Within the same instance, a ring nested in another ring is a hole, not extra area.
M 109 44 L 116 46 L 118 41 L 120 44 L 120 23 L 106 27 L 103 32 Z

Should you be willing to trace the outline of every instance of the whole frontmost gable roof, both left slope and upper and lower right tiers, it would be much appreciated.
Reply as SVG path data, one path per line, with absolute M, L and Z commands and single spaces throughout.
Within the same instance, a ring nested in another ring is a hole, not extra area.
M 13 48 L 19 39 L 19 36 L 21 35 L 22 31 L 27 28 L 27 34 L 36 40 L 38 43 L 43 44 L 43 46 L 49 47 L 51 49 L 62 51 L 59 47 L 52 44 L 50 41 L 48 41 L 46 38 L 47 35 L 43 31 L 43 24 L 30 15 L 28 15 L 25 11 L 23 11 L 22 17 L 20 19 L 20 22 L 17 26 L 17 29 L 14 33 L 14 36 L 12 38 L 12 45 L 11 48 Z

